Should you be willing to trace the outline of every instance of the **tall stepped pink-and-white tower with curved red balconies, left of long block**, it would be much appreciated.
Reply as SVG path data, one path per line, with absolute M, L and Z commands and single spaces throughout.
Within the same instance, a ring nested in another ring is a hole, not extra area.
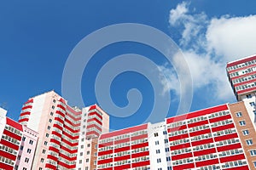
M 54 91 L 28 99 L 19 122 L 38 132 L 33 169 L 90 169 L 90 146 L 108 132 L 108 120 L 97 105 L 71 107 Z

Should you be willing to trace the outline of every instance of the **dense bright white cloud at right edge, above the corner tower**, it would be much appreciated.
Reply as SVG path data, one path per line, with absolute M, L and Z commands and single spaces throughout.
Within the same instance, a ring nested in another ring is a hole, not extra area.
M 208 50 L 226 61 L 256 54 L 256 15 L 212 19 L 206 37 Z

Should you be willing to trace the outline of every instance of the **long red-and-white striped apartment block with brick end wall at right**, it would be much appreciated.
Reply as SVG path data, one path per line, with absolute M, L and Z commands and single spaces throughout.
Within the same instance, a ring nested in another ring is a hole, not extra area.
M 105 133 L 99 139 L 97 169 L 255 169 L 251 124 L 240 102 Z

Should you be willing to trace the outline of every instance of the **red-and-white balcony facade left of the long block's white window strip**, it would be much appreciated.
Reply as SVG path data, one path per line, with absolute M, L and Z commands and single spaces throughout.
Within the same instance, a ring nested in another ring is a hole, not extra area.
M 102 134 L 97 169 L 150 169 L 148 124 Z

